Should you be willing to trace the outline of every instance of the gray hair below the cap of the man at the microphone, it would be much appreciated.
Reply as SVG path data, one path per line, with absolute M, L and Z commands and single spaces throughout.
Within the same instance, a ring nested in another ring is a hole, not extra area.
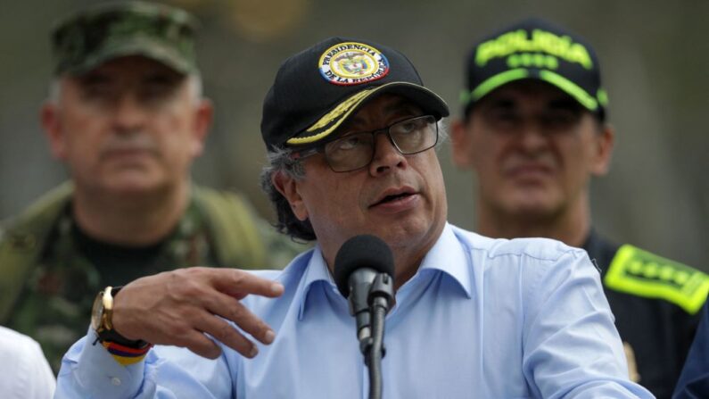
M 448 129 L 442 119 L 436 125 L 438 126 L 438 142 L 435 150 L 438 151 L 448 138 Z M 293 159 L 292 154 L 293 150 L 290 148 L 276 148 L 268 151 L 268 165 L 261 170 L 261 188 L 268 195 L 268 199 L 276 210 L 278 219 L 276 221 L 276 229 L 293 238 L 312 241 L 317 237 L 315 237 L 315 230 L 313 230 L 310 221 L 299 220 L 295 217 L 291 204 L 276 189 L 272 180 L 276 173 L 284 173 L 284 175 L 296 180 L 305 179 L 305 168 L 303 168 L 301 160 Z

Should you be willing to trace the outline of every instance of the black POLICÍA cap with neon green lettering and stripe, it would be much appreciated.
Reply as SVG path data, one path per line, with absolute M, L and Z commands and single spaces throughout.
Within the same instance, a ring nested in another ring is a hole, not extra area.
M 601 120 L 608 97 L 601 86 L 598 56 L 581 37 L 530 18 L 483 37 L 466 60 L 467 114 L 492 90 L 520 79 L 539 79 L 563 90 Z

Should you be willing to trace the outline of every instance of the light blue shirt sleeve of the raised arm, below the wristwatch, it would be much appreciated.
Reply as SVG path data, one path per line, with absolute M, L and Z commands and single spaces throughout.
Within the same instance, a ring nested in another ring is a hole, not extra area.
M 71 346 L 62 359 L 54 398 L 229 398 L 231 376 L 225 354 L 202 358 L 185 348 L 155 346 L 144 361 L 123 366 L 87 337 Z

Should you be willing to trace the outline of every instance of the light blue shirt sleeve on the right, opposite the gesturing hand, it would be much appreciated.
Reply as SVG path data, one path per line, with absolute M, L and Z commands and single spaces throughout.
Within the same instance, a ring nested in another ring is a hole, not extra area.
M 539 397 L 652 398 L 628 378 L 622 342 L 588 255 L 524 265 L 523 369 Z

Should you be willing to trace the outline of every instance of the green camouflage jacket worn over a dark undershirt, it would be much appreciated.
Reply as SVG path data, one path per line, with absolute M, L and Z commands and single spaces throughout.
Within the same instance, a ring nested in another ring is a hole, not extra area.
M 55 188 L 0 229 L 0 324 L 35 338 L 54 370 L 86 335 L 95 295 L 118 285 L 78 251 L 71 192 L 69 183 Z M 260 220 L 241 196 L 193 187 L 190 205 L 148 270 L 122 277 L 194 265 L 283 267 L 304 249 Z

